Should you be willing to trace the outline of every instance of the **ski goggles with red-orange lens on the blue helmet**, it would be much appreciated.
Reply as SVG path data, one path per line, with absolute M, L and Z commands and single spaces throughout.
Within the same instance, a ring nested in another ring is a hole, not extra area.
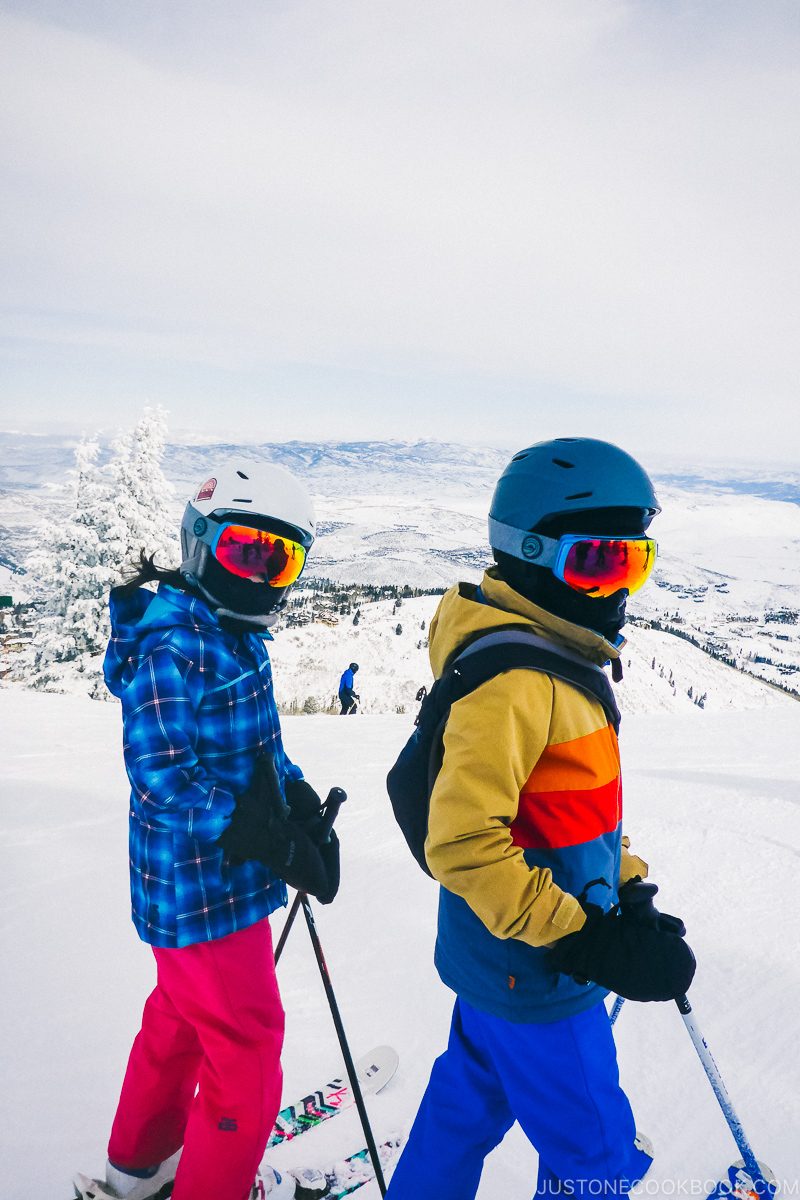
M 646 583 L 656 560 L 652 538 L 567 533 L 546 538 L 524 533 L 499 521 L 489 521 L 489 535 L 495 550 L 536 566 L 549 566 L 557 578 L 575 592 L 602 599 L 625 588 L 638 592 Z

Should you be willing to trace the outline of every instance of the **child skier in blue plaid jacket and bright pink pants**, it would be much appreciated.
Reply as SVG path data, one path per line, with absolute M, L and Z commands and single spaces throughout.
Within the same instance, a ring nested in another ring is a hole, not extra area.
M 106 1182 L 78 1176 L 80 1196 L 295 1194 L 294 1178 L 257 1174 L 282 1086 L 266 918 L 287 902 L 287 882 L 333 899 L 338 842 L 314 840 L 321 803 L 283 749 L 265 638 L 313 539 L 296 479 L 234 463 L 187 505 L 180 570 L 143 557 L 112 594 L 104 673 L 122 703 L 133 922 L 157 984 Z M 156 593 L 139 586 L 156 578 Z

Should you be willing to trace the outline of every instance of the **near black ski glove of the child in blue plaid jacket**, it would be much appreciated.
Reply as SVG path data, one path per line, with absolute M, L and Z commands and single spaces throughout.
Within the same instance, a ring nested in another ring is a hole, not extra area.
M 230 824 L 218 844 L 227 854 L 241 859 L 257 859 L 299 892 L 308 892 L 320 904 L 330 904 L 339 887 L 339 842 L 331 830 L 330 841 L 317 845 L 306 828 L 309 811 L 321 821 L 320 799 L 311 787 L 297 785 L 305 780 L 287 781 L 287 799 L 295 787 L 297 816 L 294 806 L 287 809 L 281 796 L 275 761 L 261 756 L 255 762 L 253 779 L 236 800 Z M 311 793 L 311 797 L 308 796 Z

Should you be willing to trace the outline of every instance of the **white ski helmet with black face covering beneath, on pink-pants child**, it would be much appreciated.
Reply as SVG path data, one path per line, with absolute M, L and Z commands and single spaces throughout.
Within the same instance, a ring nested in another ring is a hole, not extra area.
M 231 574 L 215 546 L 228 526 L 263 530 L 295 544 L 302 563 L 287 586 Z M 271 462 L 234 460 L 213 470 L 186 505 L 181 521 L 181 575 L 217 610 L 217 616 L 255 626 L 275 623 L 305 566 L 317 530 L 305 486 Z

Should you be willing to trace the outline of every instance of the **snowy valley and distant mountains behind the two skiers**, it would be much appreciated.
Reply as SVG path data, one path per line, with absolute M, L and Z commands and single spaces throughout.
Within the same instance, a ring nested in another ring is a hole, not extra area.
M 10 572 L 22 568 L 42 520 L 58 520 L 70 504 L 73 452 L 74 439 L 0 433 L 0 588 L 13 595 L 24 595 L 24 576 Z M 198 481 L 233 456 L 279 462 L 311 487 L 319 536 L 308 583 L 331 578 L 445 588 L 458 578 L 477 581 L 489 563 L 486 514 L 509 458 L 505 450 L 438 442 L 173 444 L 164 474 L 176 500 L 166 518 L 178 522 Z M 800 691 L 800 473 L 672 463 L 655 481 L 663 508 L 652 527 L 660 557 L 652 581 L 630 604 L 632 614 L 670 635 L 675 662 L 687 647 L 710 650 Z M 319 634 L 314 628 L 311 642 Z M 302 630 L 290 636 L 309 641 Z M 319 635 L 329 636 L 343 641 Z M 416 641 L 407 648 L 409 678 L 420 676 L 416 665 L 411 670 Z M 311 642 L 306 659 L 314 655 Z M 387 644 L 391 670 L 401 671 L 395 652 L 403 638 Z M 384 710 L 395 710 L 405 700 L 395 701 L 386 671 L 381 677 L 379 690 L 390 704 Z M 306 686 L 305 697 L 324 695 L 309 683 L 297 691 Z

